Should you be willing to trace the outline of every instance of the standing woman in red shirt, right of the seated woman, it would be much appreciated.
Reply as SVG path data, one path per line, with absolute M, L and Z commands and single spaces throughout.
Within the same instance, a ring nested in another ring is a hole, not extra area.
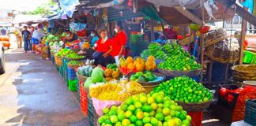
M 123 29 L 122 21 L 117 21 L 115 24 L 117 35 L 113 38 L 113 51 L 111 52 L 111 55 L 115 57 L 115 63 L 117 65 L 119 65 L 119 57 L 123 56 L 127 42 L 126 32 Z

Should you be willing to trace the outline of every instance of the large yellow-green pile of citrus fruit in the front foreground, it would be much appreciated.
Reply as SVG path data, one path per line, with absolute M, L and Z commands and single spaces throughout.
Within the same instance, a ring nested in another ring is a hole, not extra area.
M 189 126 L 191 117 L 164 92 L 134 95 L 121 106 L 104 109 L 98 122 L 102 126 Z

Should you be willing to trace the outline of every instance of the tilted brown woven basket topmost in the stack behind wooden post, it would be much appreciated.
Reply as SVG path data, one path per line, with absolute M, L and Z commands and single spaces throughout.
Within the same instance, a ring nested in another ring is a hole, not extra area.
M 219 43 L 220 41 L 228 38 L 227 31 L 223 28 L 216 29 L 214 31 L 209 31 L 205 35 L 205 47 L 211 46 L 215 43 Z

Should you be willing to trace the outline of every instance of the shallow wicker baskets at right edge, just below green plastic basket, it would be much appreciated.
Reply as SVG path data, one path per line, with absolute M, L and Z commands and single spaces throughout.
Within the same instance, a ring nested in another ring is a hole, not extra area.
M 232 75 L 237 80 L 256 80 L 256 65 L 235 65 Z

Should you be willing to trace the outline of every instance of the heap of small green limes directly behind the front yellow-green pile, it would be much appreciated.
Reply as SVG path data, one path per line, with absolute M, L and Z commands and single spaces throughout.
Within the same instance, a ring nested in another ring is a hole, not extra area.
M 175 102 L 207 102 L 213 98 L 209 89 L 187 76 L 175 77 L 160 83 L 152 90 L 151 94 L 159 91 L 164 91 L 164 95 Z

